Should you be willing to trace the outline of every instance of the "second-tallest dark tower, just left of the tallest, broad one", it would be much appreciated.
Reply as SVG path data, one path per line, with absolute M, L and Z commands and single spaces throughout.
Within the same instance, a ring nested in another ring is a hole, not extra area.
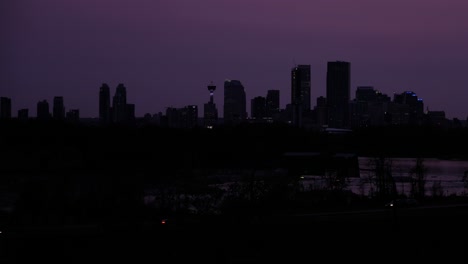
M 292 123 L 302 125 L 302 116 L 310 112 L 310 65 L 297 65 L 291 70 Z

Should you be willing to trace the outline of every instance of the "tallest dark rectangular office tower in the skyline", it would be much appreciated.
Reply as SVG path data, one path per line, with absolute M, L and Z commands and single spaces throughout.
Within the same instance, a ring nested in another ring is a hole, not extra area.
M 328 126 L 349 127 L 350 63 L 332 61 L 327 65 Z

